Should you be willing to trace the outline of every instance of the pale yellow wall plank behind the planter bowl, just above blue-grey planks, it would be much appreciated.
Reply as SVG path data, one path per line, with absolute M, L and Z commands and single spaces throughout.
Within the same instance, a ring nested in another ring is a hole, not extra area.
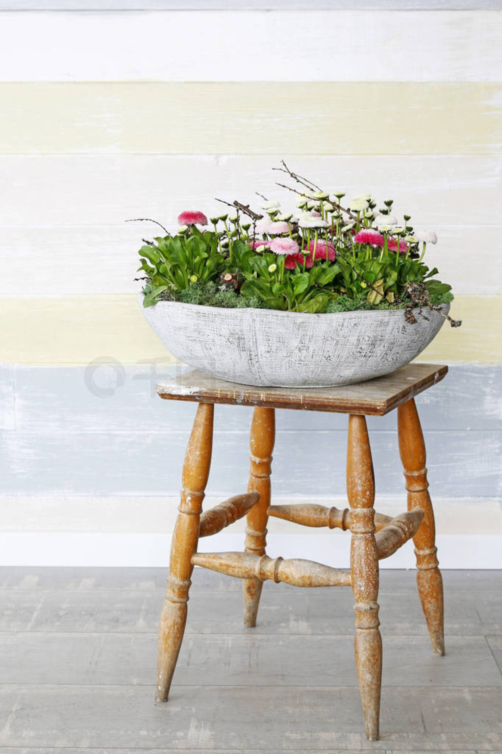
M 459 296 L 452 316 L 420 360 L 502 361 L 502 296 Z M 111 357 L 123 363 L 174 361 L 154 336 L 133 295 L 59 299 L 0 299 L 0 363 L 89 363 Z

